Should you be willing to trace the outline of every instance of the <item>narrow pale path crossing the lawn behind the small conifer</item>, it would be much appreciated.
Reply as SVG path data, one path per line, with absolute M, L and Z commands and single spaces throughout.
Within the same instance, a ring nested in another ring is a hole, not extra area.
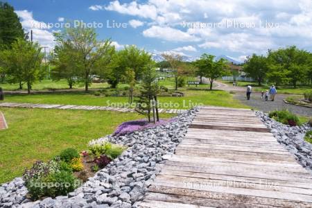
M 106 110 L 115 112 L 135 112 L 133 108 L 126 107 L 108 107 L 108 106 L 91 106 L 91 105 L 56 105 L 56 104 L 33 104 L 33 103 L 0 103 L 0 107 L 26 107 L 42 109 L 60 109 L 60 110 Z M 182 109 L 162 109 L 159 113 L 182 114 L 187 110 Z

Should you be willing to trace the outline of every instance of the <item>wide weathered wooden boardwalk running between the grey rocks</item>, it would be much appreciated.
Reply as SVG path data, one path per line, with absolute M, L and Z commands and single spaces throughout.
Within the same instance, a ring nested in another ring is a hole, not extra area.
M 251 110 L 202 107 L 139 207 L 312 207 L 312 175 Z

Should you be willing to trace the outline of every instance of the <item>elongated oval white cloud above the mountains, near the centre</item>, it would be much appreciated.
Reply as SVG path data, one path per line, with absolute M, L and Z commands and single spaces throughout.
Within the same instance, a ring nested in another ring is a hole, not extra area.
M 196 42 L 200 39 L 189 33 L 171 27 L 152 26 L 143 31 L 145 37 L 156 37 L 173 42 Z

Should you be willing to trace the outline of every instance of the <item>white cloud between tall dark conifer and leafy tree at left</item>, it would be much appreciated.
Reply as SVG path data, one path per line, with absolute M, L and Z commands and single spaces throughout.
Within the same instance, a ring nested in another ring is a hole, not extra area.
M 33 40 L 39 42 L 42 46 L 53 48 L 54 37 L 49 31 L 49 27 L 42 21 L 37 21 L 33 18 L 33 12 L 28 10 L 15 11 L 17 16 L 21 18 L 21 26 L 26 32 L 33 30 Z

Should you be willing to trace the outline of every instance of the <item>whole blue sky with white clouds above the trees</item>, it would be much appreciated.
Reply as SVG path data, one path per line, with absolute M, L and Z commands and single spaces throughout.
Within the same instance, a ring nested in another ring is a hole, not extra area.
M 12 0 L 8 3 L 15 7 L 25 30 L 33 29 L 34 39 L 50 47 L 53 47 L 53 31 L 61 29 L 58 24 L 76 20 L 97 26 L 98 39 L 111 38 L 117 49 L 135 44 L 151 53 L 180 53 L 190 57 L 211 53 L 237 60 L 293 44 L 308 51 L 312 49 L 311 0 Z

